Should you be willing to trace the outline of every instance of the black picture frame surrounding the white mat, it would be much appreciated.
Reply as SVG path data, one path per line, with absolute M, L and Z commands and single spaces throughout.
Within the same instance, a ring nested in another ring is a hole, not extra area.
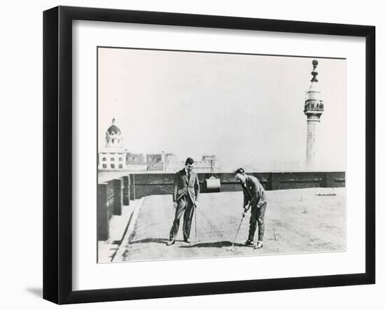
M 283 279 L 72 288 L 72 22 L 134 22 L 365 38 L 365 272 Z M 57 304 L 180 297 L 375 282 L 375 27 L 58 6 L 43 13 L 43 298 Z

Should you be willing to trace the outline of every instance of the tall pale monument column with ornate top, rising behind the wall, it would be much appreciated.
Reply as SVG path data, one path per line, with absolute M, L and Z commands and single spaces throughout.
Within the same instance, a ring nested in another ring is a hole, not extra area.
M 318 79 L 316 68 L 317 60 L 313 60 L 313 71 L 311 71 L 311 85 L 306 94 L 304 102 L 304 114 L 307 116 L 307 146 L 306 146 L 306 169 L 314 170 L 316 161 L 316 128 L 323 113 L 323 101 L 321 92 L 318 90 Z

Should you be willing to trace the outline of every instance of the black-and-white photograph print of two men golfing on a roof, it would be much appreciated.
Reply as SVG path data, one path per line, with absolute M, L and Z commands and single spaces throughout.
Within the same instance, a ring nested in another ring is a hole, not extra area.
M 97 48 L 97 262 L 346 251 L 346 59 Z

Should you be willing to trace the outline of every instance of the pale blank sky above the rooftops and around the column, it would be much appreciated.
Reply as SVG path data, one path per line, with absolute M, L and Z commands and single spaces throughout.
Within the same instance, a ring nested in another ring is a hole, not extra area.
M 215 154 L 221 170 L 304 169 L 313 58 L 99 48 L 98 142 L 113 116 L 132 153 Z M 319 170 L 346 166 L 346 60 L 317 58 Z

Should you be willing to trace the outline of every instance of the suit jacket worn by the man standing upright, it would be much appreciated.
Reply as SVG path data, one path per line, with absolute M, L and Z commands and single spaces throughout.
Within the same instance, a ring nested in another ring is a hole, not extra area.
M 188 182 L 186 169 L 182 169 L 175 174 L 172 200 L 178 202 L 186 193 L 190 196 L 191 201 L 195 202 L 200 194 L 200 180 L 195 171 L 190 171 L 190 182 Z

